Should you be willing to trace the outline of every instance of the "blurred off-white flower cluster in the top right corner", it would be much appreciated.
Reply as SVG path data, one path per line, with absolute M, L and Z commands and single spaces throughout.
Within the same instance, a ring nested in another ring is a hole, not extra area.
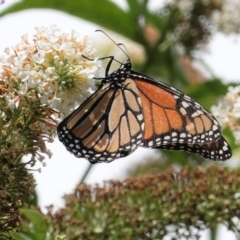
M 222 10 L 212 15 L 213 30 L 226 34 L 240 33 L 240 2 L 239 0 L 221 0 Z

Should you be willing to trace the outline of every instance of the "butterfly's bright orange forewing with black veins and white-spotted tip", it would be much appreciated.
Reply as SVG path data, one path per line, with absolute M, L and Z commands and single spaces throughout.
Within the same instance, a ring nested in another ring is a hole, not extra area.
M 220 138 L 219 123 L 196 101 L 144 75 L 137 77 L 134 74 L 133 79 L 143 103 L 142 146 L 204 144 Z

